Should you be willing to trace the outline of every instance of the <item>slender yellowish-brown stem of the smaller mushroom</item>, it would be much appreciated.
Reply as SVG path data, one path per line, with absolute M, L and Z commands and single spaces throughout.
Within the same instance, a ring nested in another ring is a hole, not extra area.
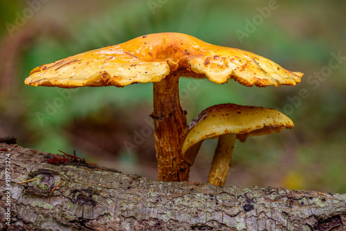
M 212 167 L 210 167 L 208 183 L 219 186 L 225 185 L 228 171 L 232 163 L 232 154 L 236 138 L 237 134 L 235 133 L 219 136 L 217 149 L 212 158 Z

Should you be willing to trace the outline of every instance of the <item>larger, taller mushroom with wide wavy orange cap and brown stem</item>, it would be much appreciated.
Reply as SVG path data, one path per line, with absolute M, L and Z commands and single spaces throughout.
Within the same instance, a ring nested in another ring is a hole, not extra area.
M 295 85 L 302 73 L 291 72 L 260 55 L 215 46 L 190 35 L 158 33 L 91 50 L 34 68 L 31 86 L 118 86 L 153 82 L 158 180 L 187 181 L 190 164 L 181 154 L 188 133 L 179 102 L 179 77 L 228 79 L 245 86 Z

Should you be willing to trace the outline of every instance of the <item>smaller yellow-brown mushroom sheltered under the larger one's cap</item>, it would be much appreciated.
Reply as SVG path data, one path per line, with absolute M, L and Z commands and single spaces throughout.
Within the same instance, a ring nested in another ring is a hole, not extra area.
M 224 186 L 231 166 L 235 139 L 265 135 L 293 129 L 290 118 L 274 109 L 237 104 L 218 104 L 202 111 L 189 124 L 190 132 L 183 143 L 185 160 L 193 165 L 203 140 L 219 137 L 208 183 Z

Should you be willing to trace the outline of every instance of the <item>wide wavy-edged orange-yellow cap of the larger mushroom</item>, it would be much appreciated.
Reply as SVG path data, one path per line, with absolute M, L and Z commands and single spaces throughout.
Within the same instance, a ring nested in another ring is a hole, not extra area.
M 25 83 L 122 87 L 159 82 L 172 73 L 208 77 L 217 84 L 233 78 L 244 86 L 295 85 L 303 75 L 248 51 L 208 44 L 181 33 L 157 33 L 38 66 Z

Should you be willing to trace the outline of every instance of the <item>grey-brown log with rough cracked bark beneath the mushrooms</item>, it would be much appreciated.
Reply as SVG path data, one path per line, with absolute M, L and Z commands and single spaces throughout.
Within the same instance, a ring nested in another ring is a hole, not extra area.
M 0 230 L 346 228 L 346 194 L 149 181 L 17 145 L 2 143 L 0 150 Z M 18 183 L 31 178 L 37 180 Z

